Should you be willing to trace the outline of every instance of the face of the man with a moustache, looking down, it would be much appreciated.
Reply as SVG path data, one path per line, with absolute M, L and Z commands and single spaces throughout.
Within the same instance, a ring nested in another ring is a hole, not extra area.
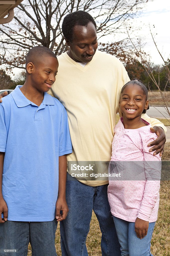
M 97 34 L 96 28 L 92 22 L 87 27 L 76 25 L 73 29 L 73 41 L 66 39 L 67 45 L 70 47 L 68 55 L 76 62 L 90 62 L 96 52 Z

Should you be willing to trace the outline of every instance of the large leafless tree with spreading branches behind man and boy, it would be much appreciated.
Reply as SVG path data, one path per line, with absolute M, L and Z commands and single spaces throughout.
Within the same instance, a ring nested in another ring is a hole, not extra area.
M 15 8 L 12 22 L 0 26 L 0 65 L 24 68 L 26 52 L 37 45 L 50 48 L 56 55 L 66 51 L 61 24 L 68 13 L 89 12 L 95 18 L 98 38 L 101 38 L 120 32 L 123 20 L 135 15 L 146 2 L 148 0 L 25 0 Z

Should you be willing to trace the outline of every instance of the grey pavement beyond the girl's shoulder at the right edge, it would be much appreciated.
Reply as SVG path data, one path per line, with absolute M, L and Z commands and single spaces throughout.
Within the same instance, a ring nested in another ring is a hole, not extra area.
M 170 108 L 169 108 L 169 112 L 170 112 Z M 147 115 L 154 117 L 154 118 L 167 118 L 170 119 L 170 116 L 168 115 L 168 113 L 166 112 L 164 107 L 149 107 L 149 109 L 147 110 Z M 167 133 L 166 133 L 166 141 L 170 142 L 170 126 L 167 127 Z

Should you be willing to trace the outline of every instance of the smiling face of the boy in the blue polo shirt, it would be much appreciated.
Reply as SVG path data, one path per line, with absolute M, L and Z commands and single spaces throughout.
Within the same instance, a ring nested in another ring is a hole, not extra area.
M 57 71 L 57 58 L 44 57 L 42 61 L 32 66 L 31 86 L 39 92 L 47 92 L 56 80 Z

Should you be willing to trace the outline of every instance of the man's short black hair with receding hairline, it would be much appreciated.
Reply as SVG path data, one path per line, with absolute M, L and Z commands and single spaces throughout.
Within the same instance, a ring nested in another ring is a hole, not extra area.
M 96 22 L 89 13 L 84 11 L 76 11 L 73 13 L 69 13 L 64 17 L 62 23 L 62 33 L 67 40 L 72 42 L 74 26 L 87 26 L 89 22 L 92 22 L 95 28 L 97 29 Z

